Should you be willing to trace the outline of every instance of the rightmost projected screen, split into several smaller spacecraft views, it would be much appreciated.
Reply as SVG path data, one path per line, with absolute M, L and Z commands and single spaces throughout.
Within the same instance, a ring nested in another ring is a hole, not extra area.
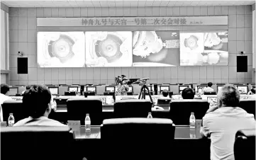
M 180 65 L 228 65 L 228 31 L 180 33 Z

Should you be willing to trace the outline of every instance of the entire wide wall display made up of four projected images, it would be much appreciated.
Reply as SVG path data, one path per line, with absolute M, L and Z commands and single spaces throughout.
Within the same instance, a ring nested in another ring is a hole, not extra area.
M 228 65 L 228 31 L 38 32 L 38 67 Z

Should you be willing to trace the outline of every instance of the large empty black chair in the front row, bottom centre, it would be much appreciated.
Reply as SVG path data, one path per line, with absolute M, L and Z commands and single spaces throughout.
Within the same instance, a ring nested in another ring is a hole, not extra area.
M 101 126 L 106 159 L 171 159 L 175 127 L 163 118 L 117 118 Z M 165 147 L 161 147 L 165 144 Z M 155 151 L 159 150 L 159 152 Z M 109 154 L 109 153 L 113 154 Z M 169 158 L 168 158 L 169 157 Z

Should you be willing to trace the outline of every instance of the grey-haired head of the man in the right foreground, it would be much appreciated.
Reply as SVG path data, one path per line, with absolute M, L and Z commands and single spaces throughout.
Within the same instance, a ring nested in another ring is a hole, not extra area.
M 218 107 L 237 107 L 240 101 L 240 93 L 232 84 L 226 84 L 218 90 Z

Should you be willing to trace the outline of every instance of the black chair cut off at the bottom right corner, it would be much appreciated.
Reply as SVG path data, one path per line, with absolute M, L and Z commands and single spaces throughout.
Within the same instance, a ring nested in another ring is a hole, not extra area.
M 236 132 L 234 156 L 235 160 L 255 160 L 255 128 Z

